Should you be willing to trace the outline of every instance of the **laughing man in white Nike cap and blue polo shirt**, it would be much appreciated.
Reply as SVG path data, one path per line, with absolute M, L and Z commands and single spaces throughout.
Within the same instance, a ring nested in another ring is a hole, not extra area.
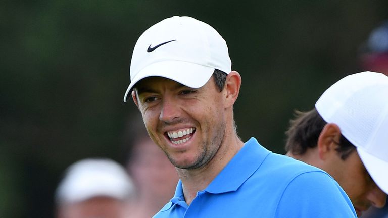
M 236 133 L 241 77 L 225 40 L 190 17 L 167 18 L 136 42 L 128 95 L 180 178 L 154 217 L 355 217 L 323 171 Z

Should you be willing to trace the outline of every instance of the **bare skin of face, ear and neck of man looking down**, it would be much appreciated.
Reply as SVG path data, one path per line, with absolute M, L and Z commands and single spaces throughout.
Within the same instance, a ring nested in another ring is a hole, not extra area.
M 302 155 L 290 152 L 287 155 L 330 174 L 345 190 L 358 216 L 370 206 L 383 207 L 386 194 L 372 180 L 357 151 L 354 150 L 345 160 L 336 151 L 340 137 L 341 130 L 336 124 L 326 124 L 318 138 L 317 147 L 308 149 Z

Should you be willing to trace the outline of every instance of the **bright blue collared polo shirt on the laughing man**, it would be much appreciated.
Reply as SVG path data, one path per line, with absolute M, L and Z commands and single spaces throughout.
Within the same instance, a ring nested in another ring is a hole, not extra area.
M 357 217 L 344 190 L 324 171 L 275 154 L 251 138 L 190 205 L 179 180 L 161 217 Z

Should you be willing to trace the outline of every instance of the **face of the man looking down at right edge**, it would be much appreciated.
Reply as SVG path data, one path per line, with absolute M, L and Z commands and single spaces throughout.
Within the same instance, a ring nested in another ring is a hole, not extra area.
M 337 160 L 332 161 L 330 175 L 348 194 L 357 215 L 360 216 L 362 211 L 370 206 L 384 206 L 386 194 L 369 176 L 357 151 L 353 151 L 345 160 L 341 159 L 339 155 L 337 157 Z

